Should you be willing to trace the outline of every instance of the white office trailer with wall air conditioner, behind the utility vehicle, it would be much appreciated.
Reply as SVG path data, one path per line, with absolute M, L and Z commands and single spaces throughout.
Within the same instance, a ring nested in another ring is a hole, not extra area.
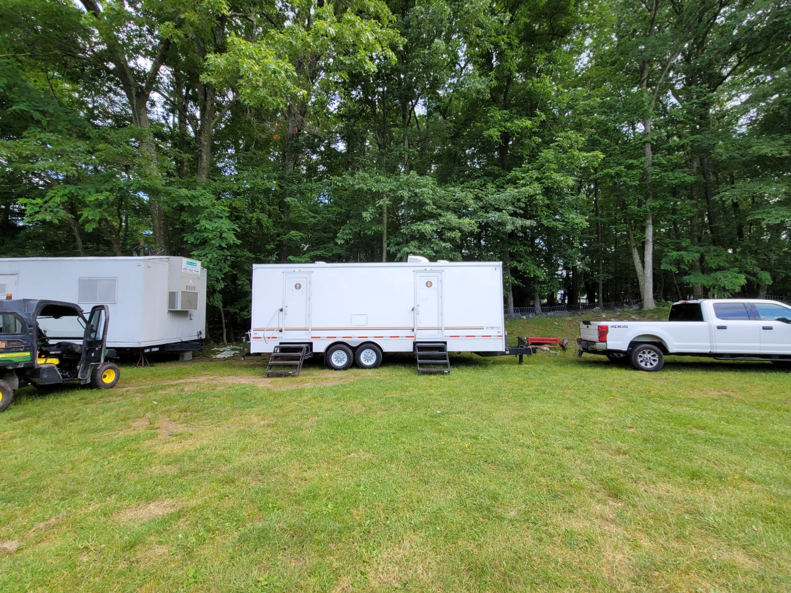
M 108 348 L 189 352 L 202 348 L 206 269 L 172 256 L 2 258 L 0 293 L 84 309 L 106 304 Z

